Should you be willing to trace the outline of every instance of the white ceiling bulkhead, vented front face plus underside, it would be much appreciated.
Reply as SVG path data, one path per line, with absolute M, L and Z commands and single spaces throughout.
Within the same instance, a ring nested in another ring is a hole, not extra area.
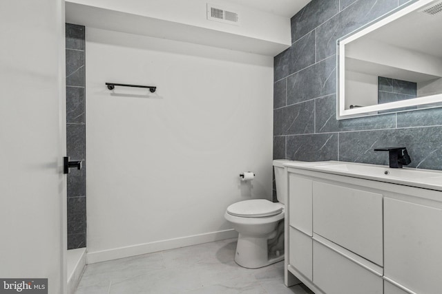
M 298 2 L 299 9 L 306 0 Z M 204 0 L 70 0 L 66 21 L 159 39 L 276 56 L 291 45 L 290 18 L 215 0 L 240 14 L 240 25 L 206 19 Z M 294 8 L 291 8 L 293 10 Z

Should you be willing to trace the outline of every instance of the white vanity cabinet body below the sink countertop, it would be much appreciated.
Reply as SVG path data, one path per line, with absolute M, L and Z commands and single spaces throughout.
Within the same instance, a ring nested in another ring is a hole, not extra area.
M 442 293 L 442 187 L 293 163 L 287 177 L 286 270 L 314 293 Z

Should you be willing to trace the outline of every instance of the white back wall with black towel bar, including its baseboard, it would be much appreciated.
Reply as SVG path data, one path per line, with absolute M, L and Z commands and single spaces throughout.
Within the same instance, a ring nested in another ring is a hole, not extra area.
M 88 262 L 236 235 L 227 206 L 271 199 L 272 97 L 271 57 L 86 28 Z

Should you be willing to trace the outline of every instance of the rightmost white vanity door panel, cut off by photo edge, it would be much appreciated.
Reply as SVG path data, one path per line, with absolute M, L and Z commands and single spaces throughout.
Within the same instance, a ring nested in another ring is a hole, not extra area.
M 439 294 L 442 210 L 384 199 L 385 277 L 415 293 Z

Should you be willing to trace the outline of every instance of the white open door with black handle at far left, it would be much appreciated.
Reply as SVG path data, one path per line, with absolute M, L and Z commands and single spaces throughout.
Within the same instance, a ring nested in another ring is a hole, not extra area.
M 50 294 L 66 293 L 64 63 L 64 1 L 0 1 L 0 279 Z

